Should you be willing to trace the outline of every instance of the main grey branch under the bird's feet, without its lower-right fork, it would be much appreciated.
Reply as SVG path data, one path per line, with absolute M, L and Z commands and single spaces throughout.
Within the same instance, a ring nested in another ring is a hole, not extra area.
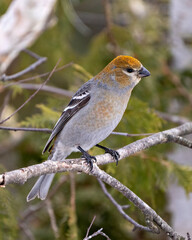
M 121 149 L 118 149 L 120 159 L 129 157 L 135 153 L 138 153 L 144 149 L 150 148 L 157 144 L 163 144 L 170 142 L 169 135 L 182 136 L 192 133 L 192 122 L 185 123 L 179 127 L 171 128 L 169 130 L 156 133 L 149 137 L 137 140 Z M 103 165 L 114 162 L 113 157 L 106 153 L 104 155 L 98 155 L 97 164 Z M 63 162 L 46 161 L 41 164 L 29 166 L 26 168 L 6 172 L 0 175 L 0 185 L 8 185 L 10 183 L 25 183 L 27 179 L 35 176 L 40 176 L 46 173 L 52 172 L 66 172 L 66 171 L 85 171 L 81 168 L 87 166 L 83 164 L 82 159 L 67 159 Z M 79 169 L 80 167 L 80 169 Z

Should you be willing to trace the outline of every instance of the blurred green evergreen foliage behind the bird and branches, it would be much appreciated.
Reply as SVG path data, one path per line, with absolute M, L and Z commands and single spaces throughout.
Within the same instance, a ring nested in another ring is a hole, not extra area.
M 96 9 L 92 5 L 96 6 Z M 150 5 L 153 5 L 153 3 Z M 5 11 L 7 6 L 7 0 L 2 0 L 0 3 L 1 13 Z M 84 13 L 89 12 L 86 6 L 92 8 L 91 14 L 92 11 L 96 15 L 103 12 L 103 5 L 100 6 L 99 1 L 79 1 L 79 13 L 81 11 Z M 114 22 L 119 24 L 116 18 L 119 19 L 119 16 L 125 15 L 127 20 L 125 20 L 126 25 L 122 20 L 121 26 L 116 24 L 112 25 L 111 28 L 112 36 L 121 51 L 120 54 L 137 57 L 151 72 L 151 76 L 142 79 L 134 89 L 128 108 L 116 131 L 154 133 L 171 127 L 171 124 L 168 125 L 156 115 L 154 109 L 166 111 L 176 97 L 184 103 L 180 112 L 191 116 L 191 106 L 188 105 L 184 96 L 179 95 L 175 86 L 163 71 L 164 66 L 170 61 L 167 46 L 167 17 L 157 11 L 157 6 L 152 6 L 152 9 L 149 8 L 147 17 L 134 15 L 129 9 L 128 1 L 113 1 L 112 6 Z M 48 84 L 76 91 L 83 82 L 91 78 L 92 75 L 97 74 L 115 57 L 114 49 L 105 28 L 95 29 L 95 23 L 91 25 L 90 21 L 88 24 L 92 29 L 92 35 L 82 36 L 65 15 L 61 2 L 58 2 L 56 14 L 58 23 L 54 28 L 46 30 L 32 47 L 34 52 L 48 58 L 47 63 L 35 70 L 35 75 L 50 71 L 59 58 L 62 58 L 61 64 L 73 61 L 74 64 L 70 68 L 54 73 Z M 23 69 L 33 61 L 29 56 L 26 57 L 26 54 L 21 54 L 10 68 L 10 73 Z M 190 81 L 191 72 L 185 72 L 180 77 L 183 86 L 190 91 L 192 87 Z M 38 78 L 32 83 L 40 83 L 41 81 Z M 6 84 L 0 85 L 0 91 Z M 10 91 L 9 87 L 6 89 L 7 92 Z M 29 94 L 29 91 L 22 89 L 18 85 L 13 85 L 11 91 L 13 94 L 9 105 L 15 109 L 23 103 L 23 95 Z M 2 102 L 4 96 L 3 94 L 0 96 Z M 18 112 L 18 125 L 52 128 L 68 101 L 69 99 L 65 97 L 40 91 L 24 109 Z M 10 136 L 10 134 L 7 132 L 1 133 L 0 140 L 4 142 L 7 140 L 7 136 Z M 11 168 L 16 169 L 18 166 L 23 167 L 32 162 L 39 163 L 42 161 L 41 150 L 47 137 L 48 135 L 44 133 L 23 134 L 23 141 L 14 149 L 14 161 L 10 156 Z M 103 141 L 103 145 L 117 149 L 140 138 L 142 137 L 111 135 Z M 185 189 L 186 193 L 192 191 L 192 168 L 166 159 L 167 150 L 170 151 L 170 148 L 173 149 L 173 147 L 173 144 L 171 146 L 170 144 L 154 146 L 142 151 L 142 153 L 138 153 L 136 156 L 123 159 L 117 167 L 115 162 L 103 166 L 108 173 L 154 207 L 161 217 L 168 218 L 167 220 L 170 220 L 166 212 L 167 199 L 165 194 L 168 183 L 174 180 Z M 103 151 L 93 148 L 90 153 L 96 155 L 103 153 Z M 47 155 L 44 155 L 44 160 L 46 157 Z M 4 157 L 2 156 L 1 159 L 3 161 Z M 56 178 L 58 176 L 59 174 L 57 174 Z M 57 180 L 55 181 L 57 182 Z M 70 204 L 69 184 L 63 185 L 52 198 L 60 239 L 83 239 L 94 215 L 97 218 L 91 228 L 91 233 L 103 227 L 104 232 L 111 239 L 150 240 L 153 238 L 152 235 L 147 233 L 131 232 L 132 225 L 122 218 L 104 196 L 96 179 L 78 174 L 76 176 L 76 185 L 76 209 Z M 19 190 L 18 186 L 15 186 L 14 191 L 17 192 L 13 194 L 18 196 L 17 201 L 20 203 L 20 211 L 23 212 L 25 210 L 24 195 L 27 195 L 29 191 L 29 184 L 22 186 L 22 191 Z M 109 191 L 119 203 L 129 204 L 127 199 L 116 190 L 109 188 Z M 16 220 L 14 201 L 5 189 L 0 191 L 0 199 L 0 240 L 17 239 L 18 220 Z M 32 229 L 35 238 L 39 240 L 54 238 L 50 227 L 50 219 L 45 208 L 46 205 L 44 205 L 38 212 L 32 213 L 31 220 L 29 220 L 29 224 L 27 223 Z M 145 224 L 143 216 L 132 205 L 127 210 L 127 213 L 139 223 Z M 19 219 L 18 216 L 17 214 L 17 219 Z M 25 239 L 23 232 L 21 232 L 21 235 L 22 239 Z M 160 238 L 158 237 L 158 239 Z M 162 239 L 164 238 L 162 237 Z

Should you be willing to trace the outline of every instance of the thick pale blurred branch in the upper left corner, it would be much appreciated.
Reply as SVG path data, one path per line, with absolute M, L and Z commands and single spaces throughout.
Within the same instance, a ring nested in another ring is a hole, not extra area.
M 31 46 L 47 27 L 56 22 L 52 14 L 55 2 L 12 1 L 0 18 L 0 74 L 6 71 L 20 51 Z

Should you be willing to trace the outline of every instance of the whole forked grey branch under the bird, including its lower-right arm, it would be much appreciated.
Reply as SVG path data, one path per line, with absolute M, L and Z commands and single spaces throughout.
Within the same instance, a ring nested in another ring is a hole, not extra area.
M 152 136 L 137 140 L 118 150 L 120 159 L 131 156 L 141 150 L 147 149 L 157 144 L 163 144 L 170 141 L 169 135 L 182 136 L 192 133 L 192 122 L 185 123 L 179 127 L 172 128 Z M 109 154 L 99 155 L 97 164 L 107 164 L 114 162 L 114 159 Z M 82 159 L 66 159 L 65 161 L 47 160 L 44 163 L 36 164 L 26 168 L 6 172 L 0 175 L 0 185 L 6 186 L 10 183 L 25 183 L 29 178 L 40 176 L 46 173 L 56 172 L 84 172 L 86 174 L 97 177 L 103 182 L 109 184 L 113 188 L 121 192 L 129 199 L 142 213 L 147 217 L 149 226 L 154 231 L 156 225 L 162 229 L 171 239 L 184 239 L 179 236 L 157 213 L 151 209 L 145 202 L 136 196 L 130 189 L 121 184 L 118 180 L 111 177 L 109 174 L 100 170 L 96 163 L 93 163 L 93 170 L 90 172 L 89 166 Z

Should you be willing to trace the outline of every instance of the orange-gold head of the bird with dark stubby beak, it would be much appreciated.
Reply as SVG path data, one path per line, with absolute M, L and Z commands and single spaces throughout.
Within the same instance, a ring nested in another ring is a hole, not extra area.
M 118 56 L 98 75 L 106 84 L 118 84 L 119 88 L 134 88 L 150 72 L 136 59 L 130 56 Z

